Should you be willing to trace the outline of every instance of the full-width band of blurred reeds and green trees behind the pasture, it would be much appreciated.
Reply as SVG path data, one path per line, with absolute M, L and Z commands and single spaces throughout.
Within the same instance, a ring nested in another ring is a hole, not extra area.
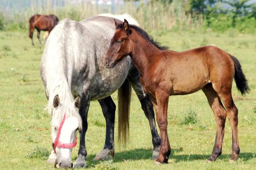
M 210 28 L 223 32 L 235 28 L 252 34 L 256 28 L 255 0 L 125 0 L 115 5 L 95 5 L 86 0 L 0 0 L 1 3 L 0 30 L 27 29 L 29 17 L 36 13 L 78 21 L 100 13 L 128 13 L 147 30 Z

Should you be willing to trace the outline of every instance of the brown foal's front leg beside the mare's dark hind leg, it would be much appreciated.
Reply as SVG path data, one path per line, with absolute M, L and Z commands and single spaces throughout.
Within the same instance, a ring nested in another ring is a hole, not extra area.
M 151 97 L 151 101 L 154 105 L 157 114 L 157 124 L 160 129 L 161 134 L 161 145 L 159 156 L 155 161 L 156 164 L 159 163 L 168 163 L 168 158 L 171 154 L 171 147 L 168 139 L 167 133 L 167 108 L 169 101 L 169 93 L 166 93 L 162 90 L 156 94 L 156 99 Z

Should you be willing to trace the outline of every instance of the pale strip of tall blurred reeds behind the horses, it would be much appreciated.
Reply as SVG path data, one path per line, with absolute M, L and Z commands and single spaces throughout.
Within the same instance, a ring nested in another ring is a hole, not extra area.
M 203 20 L 195 22 L 185 15 L 182 0 L 173 0 L 170 4 L 153 0 L 148 3 L 125 1 L 115 5 L 96 5 L 86 0 L 27 0 L 26 5 L 13 5 L 0 12 L 0 29 L 27 29 L 29 17 L 34 14 L 55 14 L 60 20 L 70 18 L 80 21 L 101 13 L 128 13 L 141 27 L 161 30 L 191 28 L 203 24 Z

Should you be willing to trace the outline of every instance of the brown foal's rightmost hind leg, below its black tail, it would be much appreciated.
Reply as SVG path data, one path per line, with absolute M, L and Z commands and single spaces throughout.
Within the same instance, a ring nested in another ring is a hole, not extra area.
M 226 83 L 227 86 L 227 83 Z M 240 152 L 239 142 L 238 142 L 238 109 L 236 108 L 235 103 L 233 102 L 232 94 L 231 94 L 231 87 L 232 82 L 228 86 L 230 88 L 225 87 L 224 85 L 213 85 L 213 88 L 220 96 L 221 101 L 227 111 L 227 117 L 230 122 L 230 126 L 232 129 L 232 153 L 230 162 L 234 162 L 238 159 L 238 155 Z

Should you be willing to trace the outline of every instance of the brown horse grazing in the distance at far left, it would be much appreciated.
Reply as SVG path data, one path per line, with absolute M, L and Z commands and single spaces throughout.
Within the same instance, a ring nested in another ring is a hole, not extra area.
M 32 40 L 32 45 L 34 45 L 33 41 L 33 32 L 34 29 L 38 31 L 37 37 L 39 42 L 40 41 L 40 31 L 52 31 L 52 28 L 58 23 L 58 17 L 55 15 L 39 15 L 35 14 L 29 18 L 29 37 Z M 42 43 L 41 43 L 42 44 Z

